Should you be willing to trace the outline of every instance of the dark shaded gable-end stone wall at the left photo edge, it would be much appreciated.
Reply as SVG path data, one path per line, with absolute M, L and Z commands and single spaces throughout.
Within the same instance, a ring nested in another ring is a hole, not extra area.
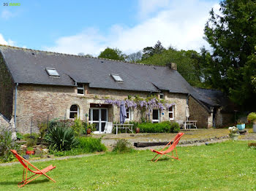
M 14 83 L 0 53 L 0 113 L 8 120 L 12 118 Z

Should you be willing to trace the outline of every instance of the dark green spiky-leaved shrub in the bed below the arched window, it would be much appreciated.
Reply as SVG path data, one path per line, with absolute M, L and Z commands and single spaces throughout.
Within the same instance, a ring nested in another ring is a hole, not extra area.
M 79 143 L 72 128 L 61 126 L 50 128 L 45 139 L 50 144 L 49 149 L 57 151 L 70 150 Z

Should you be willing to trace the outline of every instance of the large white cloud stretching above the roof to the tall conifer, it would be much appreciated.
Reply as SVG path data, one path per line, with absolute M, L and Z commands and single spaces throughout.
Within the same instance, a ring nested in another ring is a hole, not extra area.
M 161 2 L 159 5 L 155 0 L 141 0 L 140 12 L 150 17 L 140 20 L 136 26 L 110 26 L 105 36 L 95 28 L 88 28 L 73 36 L 61 37 L 56 40 L 55 46 L 46 49 L 98 55 L 105 47 L 118 47 L 125 53 L 131 53 L 142 50 L 143 47 L 153 46 L 157 40 L 165 47 L 171 44 L 178 50 L 200 50 L 203 45 L 208 47 L 207 42 L 203 40 L 203 29 L 209 17 L 208 12 L 212 7 L 216 9 L 217 4 L 202 0 Z M 154 16 L 151 15 L 152 12 Z

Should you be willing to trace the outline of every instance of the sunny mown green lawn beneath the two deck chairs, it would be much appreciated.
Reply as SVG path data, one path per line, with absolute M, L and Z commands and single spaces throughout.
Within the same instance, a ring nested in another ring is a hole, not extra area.
M 19 190 L 256 190 L 256 149 L 246 141 L 178 147 L 181 160 L 152 163 L 154 153 L 94 155 L 34 163 L 56 165 L 49 176 Z M 21 165 L 0 167 L 0 190 L 18 190 Z

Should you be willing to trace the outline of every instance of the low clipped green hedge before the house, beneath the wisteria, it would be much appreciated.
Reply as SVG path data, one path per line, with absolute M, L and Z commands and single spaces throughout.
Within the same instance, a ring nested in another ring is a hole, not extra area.
M 151 123 L 144 122 L 138 125 L 140 128 L 140 133 L 178 133 L 180 131 L 180 127 L 177 122 L 159 122 L 159 123 Z

